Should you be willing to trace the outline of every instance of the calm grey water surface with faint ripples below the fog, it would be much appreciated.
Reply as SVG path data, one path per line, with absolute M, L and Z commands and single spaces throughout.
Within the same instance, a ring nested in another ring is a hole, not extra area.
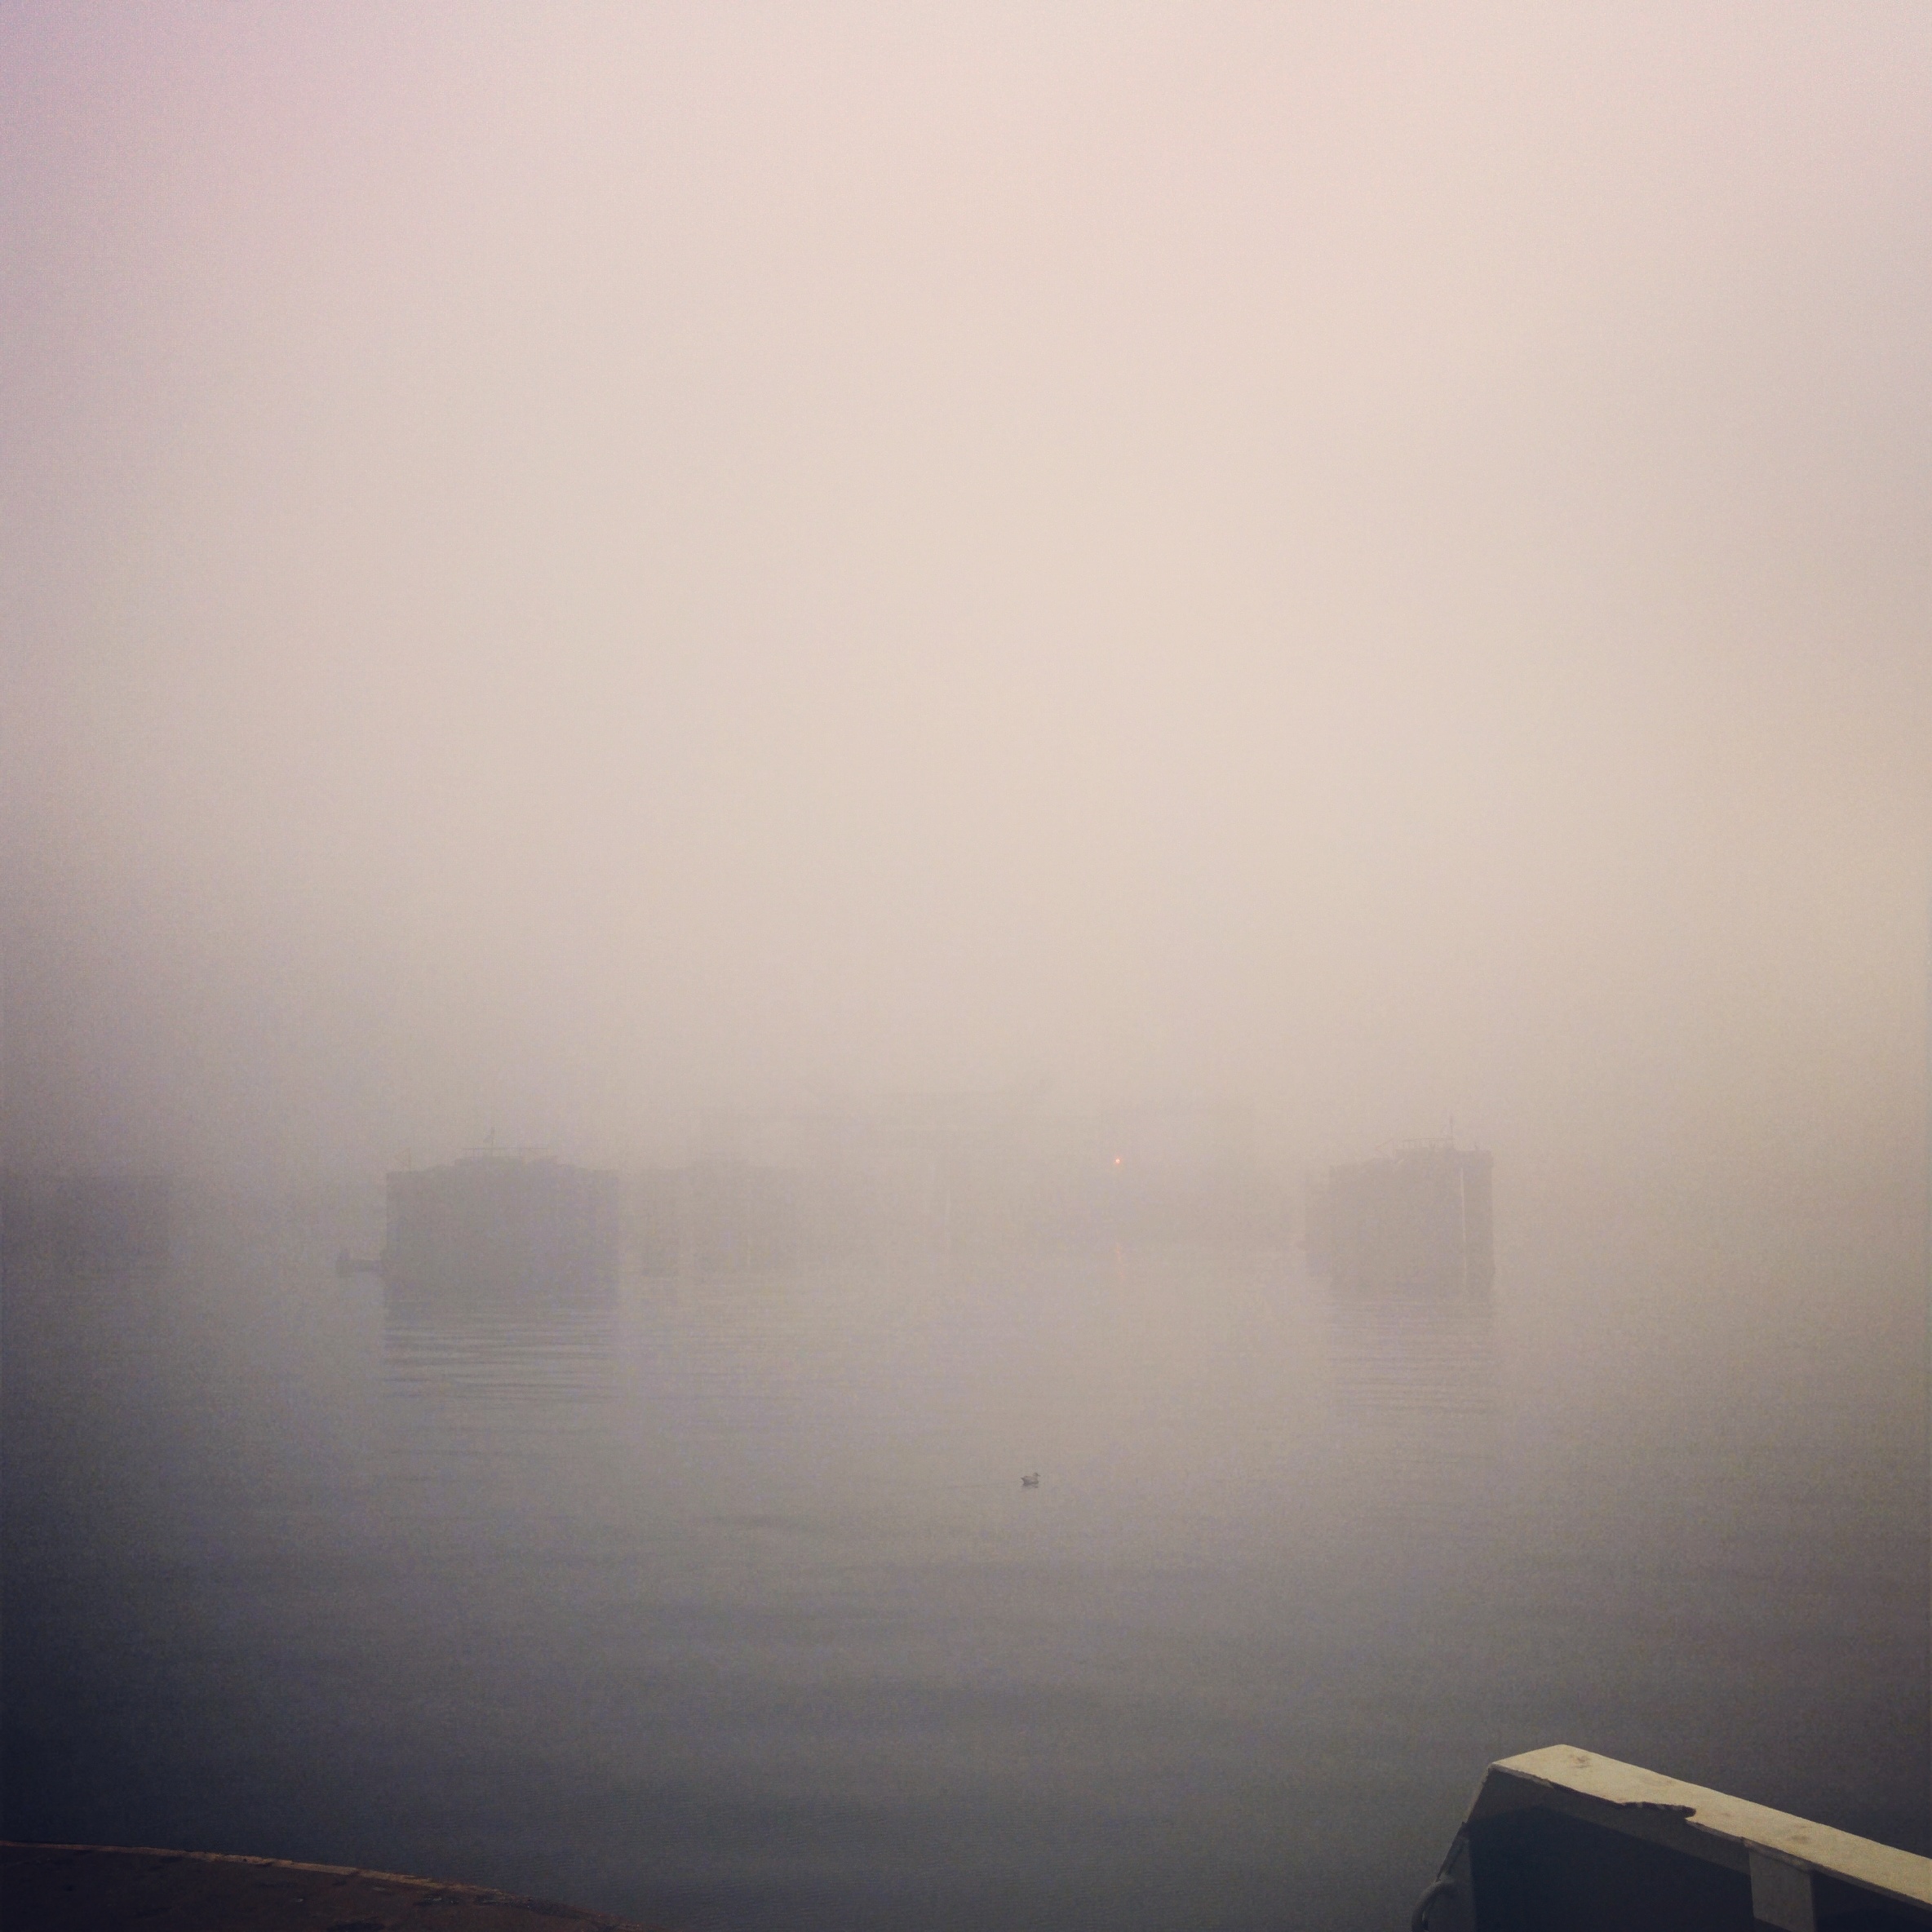
M 1397 1926 L 1567 1741 L 1928 1849 L 1922 1248 L 4 1296 L 4 1830 L 692 1928 Z M 1901 1233 L 1903 1227 L 1903 1233 Z M 1022 1472 L 1039 1470 L 1037 1488 Z

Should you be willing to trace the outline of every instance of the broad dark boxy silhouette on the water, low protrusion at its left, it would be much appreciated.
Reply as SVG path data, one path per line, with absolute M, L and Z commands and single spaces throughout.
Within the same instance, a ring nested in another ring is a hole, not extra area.
M 614 1173 L 471 1153 L 388 1177 L 383 1279 L 433 1296 L 607 1293 L 618 1238 Z

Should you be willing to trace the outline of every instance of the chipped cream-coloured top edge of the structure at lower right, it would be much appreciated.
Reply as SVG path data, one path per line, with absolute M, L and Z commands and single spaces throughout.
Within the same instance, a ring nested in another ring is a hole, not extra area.
M 1675 1843 L 1704 1859 L 1723 1847 L 1727 1855 L 1718 1862 L 1739 1870 L 1748 1868 L 1750 1853 L 1756 1851 L 1905 1905 L 1932 1905 L 1932 1859 L 1814 1824 L 1810 1818 L 1795 1818 L 1768 1804 L 1752 1804 L 1725 1791 L 1646 1772 L 1636 1764 L 1600 1758 L 1575 1745 L 1546 1745 L 1517 1758 L 1499 1758 L 1484 1774 L 1468 1824 L 1524 1804 L 1548 1804 L 1551 1799 L 1557 1801 L 1557 1810 L 1582 1818 L 1600 1814 L 1605 1804 L 1617 1806 L 1625 1812 L 1617 1820 L 1619 1828 L 1634 1828 L 1634 1835 Z M 1712 1839 L 1718 1843 L 1712 1845 Z

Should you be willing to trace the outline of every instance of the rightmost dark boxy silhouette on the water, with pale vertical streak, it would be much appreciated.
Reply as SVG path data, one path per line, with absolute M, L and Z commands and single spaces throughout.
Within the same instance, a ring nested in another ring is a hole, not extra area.
M 1486 1289 L 1490 1155 L 1418 1142 L 1308 1184 L 1308 1264 L 1349 1289 Z

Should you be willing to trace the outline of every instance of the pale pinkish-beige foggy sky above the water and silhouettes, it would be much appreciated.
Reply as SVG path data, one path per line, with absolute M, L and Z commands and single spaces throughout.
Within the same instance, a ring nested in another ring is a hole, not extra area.
M 0 12 L 6 1148 L 1924 1134 L 1932 8 Z

